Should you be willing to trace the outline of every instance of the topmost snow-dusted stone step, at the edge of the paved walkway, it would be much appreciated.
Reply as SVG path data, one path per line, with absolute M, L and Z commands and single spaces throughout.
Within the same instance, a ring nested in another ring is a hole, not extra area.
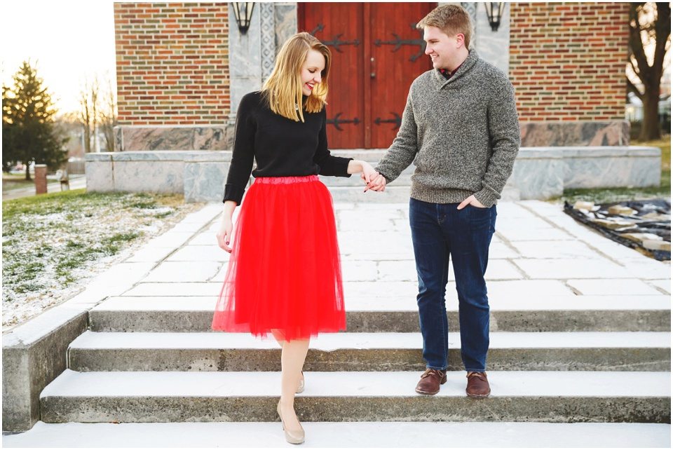
M 90 327 L 95 332 L 210 332 L 217 297 L 198 294 L 215 292 L 218 286 L 221 284 L 141 283 L 132 289 L 137 294 L 109 297 L 91 309 Z M 362 287 L 362 292 L 346 299 L 349 332 L 420 331 L 415 296 L 367 298 L 363 296 L 366 289 Z M 162 295 L 156 296 L 157 292 Z M 187 292 L 196 295 L 184 295 Z M 447 301 L 450 331 L 458 331 L 457 303 Z M 545 296 L 531 292 L 498 296 L 491 300 L 491 331 L 669 332 L 670 305 L 667 295 Z

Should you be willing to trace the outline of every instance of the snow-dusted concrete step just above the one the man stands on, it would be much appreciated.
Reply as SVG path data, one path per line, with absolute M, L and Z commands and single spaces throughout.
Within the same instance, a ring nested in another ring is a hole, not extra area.
M 463 370 L 460 335 L 449 333 L 449 369 Z M 306 371 L 423 371 L 420 333 L 322 334 L 311 340 Z M 243 333 L 85 332 L 69 346 L 76 371 L 278 371 L 272 336 Z M 669 371 L 667 332 L 495 332 L 492 370 Z

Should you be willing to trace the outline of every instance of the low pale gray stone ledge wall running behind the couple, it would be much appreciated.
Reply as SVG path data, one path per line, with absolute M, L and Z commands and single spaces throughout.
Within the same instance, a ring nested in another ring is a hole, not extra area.
M 336 156 L 369 161 L 373 165 L 385 150 L 336 150 Z M 186 202 L 221 201 L 229 172 L 231 151 L 124 151 L 86 155 L 88 191 L 184 193 Z M 411 183 L 413 165 L 390 187 Z M 639 146 L 523 147 L 505 189 L 517 199 L 559 197 L 568 188 L 658 186 L 661 151 Z M 252 178 L 251 178 L 252 179 Z M 358 176 L 321 177 L 339 198 L 362 187 Z M 358 197 L 360 198 L 360 197 Z

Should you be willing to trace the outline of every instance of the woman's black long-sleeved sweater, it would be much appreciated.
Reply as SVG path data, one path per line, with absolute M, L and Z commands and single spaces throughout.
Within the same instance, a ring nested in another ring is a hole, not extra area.
M 329 154 L 326 125 L 325 108 L 318 113 L 304 111 L 304 122 L 295 122 L 271 111 L 261 92 L 244 95 L 236 114 L 223 203 L 233 200 L 240 205 L 251 171 L 253 177 L 350 177 L 348 161 L 353 158 Z

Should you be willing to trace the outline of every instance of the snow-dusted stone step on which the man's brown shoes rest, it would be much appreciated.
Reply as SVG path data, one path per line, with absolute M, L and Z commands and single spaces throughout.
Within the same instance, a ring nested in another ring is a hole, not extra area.
M 440 393 L 414 393 L 416 371 L 308 372 L 301 421 L 670 423 L 670 372 L 491 371 L 491 397 L 465 396 L 465 373 Z M 66 369 L 40 394 L 41 420 L 277 421 L 280 372 Z

